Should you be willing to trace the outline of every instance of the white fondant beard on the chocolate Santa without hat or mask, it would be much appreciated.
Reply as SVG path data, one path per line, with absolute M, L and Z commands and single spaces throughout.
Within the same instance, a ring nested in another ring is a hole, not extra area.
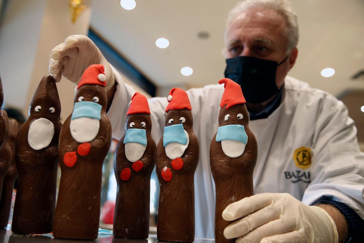
M 34 150 L 46 148 L 52 141 L 54 125 L 46 118 L 35 119 L 28 131 L 28 144 Z

